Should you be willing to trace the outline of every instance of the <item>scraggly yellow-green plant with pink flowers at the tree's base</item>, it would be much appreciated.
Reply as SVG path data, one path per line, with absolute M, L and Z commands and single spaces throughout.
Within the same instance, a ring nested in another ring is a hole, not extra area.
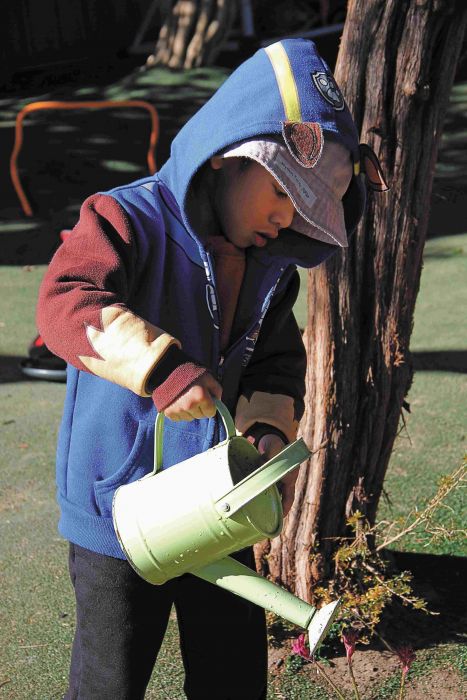
M 331 628 L 329 639 L 331 645 L 337 638 L 340 638 L 344 644 L 355 700 L 362 700 L 362 698 L 354 674 L 352 657 L 357 642 L 368 644 L 374 635 L 379 637 L 386 648 L 399 659 L 401 664 L 399 700 L 404 698 L 407 675 L 416 656 L 409 646 L 393 648 L 379 633 L 377 626 L 383 610 L 388 603 L 398 599 L 403 605 L 409 605 L 428 614 L 437 613 L 430 612 L 426 602 L 413 593 L 412 574 L 408 571 L 392 572 L 388 560 L 381 552 L 388 545 L 418 528 L 421 528 L 422 535 L 429 538 L 430 542 L 440 538 L 452 540 L 459 535 L 465 537 L 467 534 L 465 531 L 460 533 L 458 530 L 454 531 L 438 525 L 435 516 L 439 509 L 447 507 L 445 503 L 447 496 L 465 485 L 466 476 L 467 459 L 464 459 L 459 468 L 441 479 L 436 494 L 422 510 L 415 509 L 410 517 L 402 521 L 378 522 L 374 526 L 370 525 L 361 512 L 356 511 L 347 520 L 352 535 L 338 538 L 339 546 L 334 554 L 334 576 L 327 586 L 316 588 L 314 595 L 318 604 L 326 604 L 337 597 L 341 598 L 340 617 Z M 381 536 L 380 533 L 383 531 L 384 536 Z M 375 545 L 375 538 L 377 545 Z M 290 630 L 288 636 L 291 636 Z M 329 639 L 325 644 L 329 643 Z M 318 653 L 323 654 L 323 649 L 324 646 Z M 304 662 L 314 664 L 335 696 L 344 700 L 342 691 L 319 663 L 325 659 L 319 658 L 317 654 L 310 654 L 304 634 L 292 641 L 292 653 L 294 656 L 289 657 L 290 668 L 297 663 L 300 664 L 299 668 Z

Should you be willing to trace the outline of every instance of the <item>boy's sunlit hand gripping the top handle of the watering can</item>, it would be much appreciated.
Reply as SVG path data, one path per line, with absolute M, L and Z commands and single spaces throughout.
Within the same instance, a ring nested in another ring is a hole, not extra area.
M 164 409 L 167 418 L 173 421 L 195 418 L 212 418 L 216 414 L 213 397 L 220 399 L 222 387 L 212 374 L 205 372 L 188 391 Z

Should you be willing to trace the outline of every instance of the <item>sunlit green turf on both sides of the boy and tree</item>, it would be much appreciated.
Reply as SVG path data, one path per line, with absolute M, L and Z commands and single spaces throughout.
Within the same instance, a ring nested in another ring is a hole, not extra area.
M 450 250 L 456 253 L 446 255 Z M 424 352 L 443 355 L 460 351 L 467 347 L 464 328 L 457 322 L 459 310 L 466 307 L 462 280 L 467 272 L 467 235 L 429 241 L 425 259 L 412 350 L 416 357 Z M 0 269 L 0 684 L 5 682 L 0 686 L 0 697 L 11 700 L 61 697 L 74 626 L 67 547 L 56 532 L 58 510 L 54 500 L 53 463 L 64 386 L 26 381 L 17 368 L 17 360 L 24 356 L 33 334 L 35 296 L 43 271 L 43 266 Z M 446 285 L 446 279 L 455 284 Z M 302 285 L 299 313 L 303 313 L 305 291 Z M 446 317 L 450 319 L 449 332 L 444 333 Z M 457 328 L 457 337 L 452 326 Z M 420 505 L 434 491 L 437 476 L 460 461 L 465 447 L 465 374 L 446 368 L 420 369 L 409 401 L 410 440 L 402 434 L 396 443 L 385 484 L 392 506 L 382 503 L 380 509 L 385 517 L 404 514 L 415 504 Z M 447 511 L 446 517 L 454 518 L 460 526 L 465 522 L 465 503 L 460 494 L 451 499 L 450 505 L 453 511 Z M 413 539 L 405 541 L 403 547 L 420 550 Z M 429 551 L 466 554 L 462 543 L 430 547 Z M 462 658 L 456 647 L 450 648 Z M 430 654 L 428 661 L 440 663 L 436 652 Z M 390 681 L 387 683 L 385 693 L 392 687 Z M 182 685 L 177 629 L 172 620 L 147 697 L 183 698 Z M 326 690 L 293 668 L 274 680 L 270 692 L 271 698 L 282 696 L 288 700 L 327 697 Z

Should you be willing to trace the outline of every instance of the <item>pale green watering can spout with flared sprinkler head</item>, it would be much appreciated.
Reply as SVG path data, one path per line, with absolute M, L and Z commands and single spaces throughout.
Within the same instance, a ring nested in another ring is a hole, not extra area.
M 339 601 L 334 601 L 317 610 L 232 557 L 224 557 L 191 573 L 306 629 L 311 654 L 326 636 L 339 609 Z

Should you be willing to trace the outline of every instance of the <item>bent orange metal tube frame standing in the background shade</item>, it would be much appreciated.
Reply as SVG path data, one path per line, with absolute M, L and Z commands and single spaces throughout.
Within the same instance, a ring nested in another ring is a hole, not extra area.
M 32 216 L 32 208 L 21 186 L 18 175 L 18 154 L 23 143 L 23 121 L 31 112 L 42 109 L 102 109 L 102 108 L 128 108 L 138 107 L 149 112 L 151 117 L 151 135 L 149 137 L 149 150 L 147 154 L 148 168 L 151 175 L 156 172 L 156 160 L 154 151 L 159 137 L 159 115 L 156 108 L 145 100 L 96 100 L 91 102 L 31 102 L 17 115 L 15 122 L 15 144 L 10 158 L 10 175 L 21 207 L 26 216 Z

